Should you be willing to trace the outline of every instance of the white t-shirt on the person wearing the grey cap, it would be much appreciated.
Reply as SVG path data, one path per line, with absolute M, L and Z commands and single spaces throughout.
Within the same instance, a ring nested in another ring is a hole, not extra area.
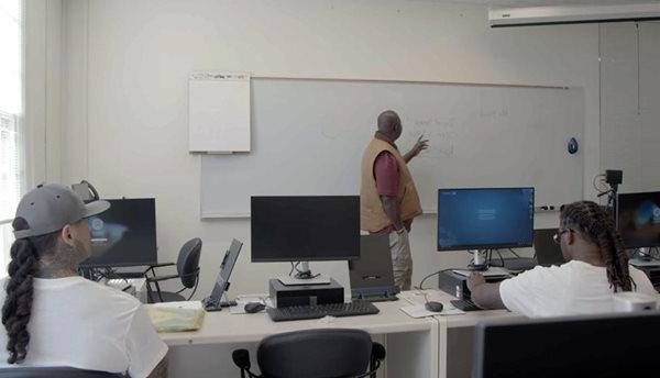
M 4 303 L 8 279 L 0 281 Z M 147 377 L 167 353 L 140 302 L 82 277 L 34 279 L 28 356 L 8 365 L 0 332 L 0 368 L 68 366 Z

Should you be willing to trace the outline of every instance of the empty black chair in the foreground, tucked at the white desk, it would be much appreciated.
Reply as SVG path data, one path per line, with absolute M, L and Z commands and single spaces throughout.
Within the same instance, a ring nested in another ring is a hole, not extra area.
M 261 376 L 250 371 L 246 349 L 234 351 L 232 359 L 242 378 L 375 377 L 385 348 L 361 330 L 307 330 L 264 338 L 256 351 Z

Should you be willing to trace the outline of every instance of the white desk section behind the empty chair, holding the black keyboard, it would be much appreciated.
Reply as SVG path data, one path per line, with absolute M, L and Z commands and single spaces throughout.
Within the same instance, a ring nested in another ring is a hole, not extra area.
M 227 310 L 209 312 L 197 332 L 163 333 L 169 345 L 169 377 L 238 377 L 231 352 L 246 348 L 256 366 L 256 346 L 272 334 L 321 327 L 365 330 L 384 344 L 387 358 L 378 377 L 437 377 L 438 321 L 413 319 L 399 309 L 405 300 L 378 302 L 376 315 L 336 318 L 332 321 L 306 320 L 273 322 L 265 312 L 231 314 Z

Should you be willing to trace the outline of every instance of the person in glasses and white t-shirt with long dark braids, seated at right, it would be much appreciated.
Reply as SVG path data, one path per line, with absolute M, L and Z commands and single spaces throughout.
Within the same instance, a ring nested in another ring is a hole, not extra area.
M 472 274 L 472 301 L 483 309 L 509 309 L 530 318 L 613 311 L 613 294 L 639 291 L 657 297 L 648 277 L 628 266 L 612 218 L 596 203 L 574 202 L 560 214 L 554 242 L 568 262 L 540 267 L 498 284 Z

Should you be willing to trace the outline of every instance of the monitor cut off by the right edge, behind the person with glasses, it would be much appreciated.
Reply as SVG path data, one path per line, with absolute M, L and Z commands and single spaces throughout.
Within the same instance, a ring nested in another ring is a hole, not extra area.
M 660 246 L 660 192 L 619 193 L 616 229 L 626 248 Z

